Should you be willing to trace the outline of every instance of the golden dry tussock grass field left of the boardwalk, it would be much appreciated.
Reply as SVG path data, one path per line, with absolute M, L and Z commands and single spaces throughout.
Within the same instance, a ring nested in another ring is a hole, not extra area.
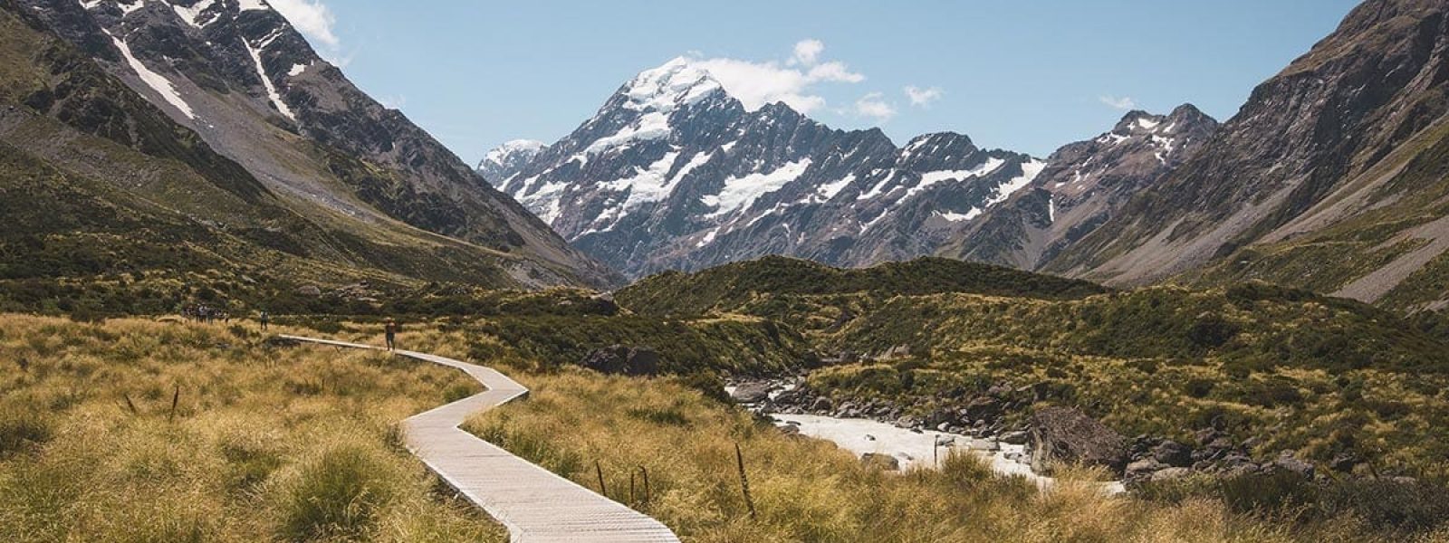
M 397 421 L 477 390 L 459 372 L 243 326 L 0 329 L 0 540 L 506 539 L 397 445 Z

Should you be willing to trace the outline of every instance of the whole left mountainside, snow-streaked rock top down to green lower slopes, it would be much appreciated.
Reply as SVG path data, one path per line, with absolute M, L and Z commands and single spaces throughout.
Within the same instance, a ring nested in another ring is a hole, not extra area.
M 0 25 L 4 279 L 619 281 L 265 1 L 4 0 Z

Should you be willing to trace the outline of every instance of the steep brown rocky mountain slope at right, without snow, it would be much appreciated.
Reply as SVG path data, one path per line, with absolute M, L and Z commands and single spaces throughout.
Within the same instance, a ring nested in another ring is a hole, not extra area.
M 1369 0 L 1042 269 L 1449 306 L 1449 4 Z

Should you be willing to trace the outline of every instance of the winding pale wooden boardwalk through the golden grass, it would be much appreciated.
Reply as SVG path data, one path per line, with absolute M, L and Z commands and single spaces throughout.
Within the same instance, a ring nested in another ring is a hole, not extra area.
M 281 336 L 354 349 L 368 345 Z M 458 368 L 488 390 L 403 420 L 407 447 L 443 481 L 509 529 L 516 543 L 678 542 L 658 520 L 510 455 L 458 426 L 469 416 L 522 398 L 527 388 L 506 375 L 436 355 L 397 350 L 417 361 Z M 568 436 L 558 436 L 567 439 Z

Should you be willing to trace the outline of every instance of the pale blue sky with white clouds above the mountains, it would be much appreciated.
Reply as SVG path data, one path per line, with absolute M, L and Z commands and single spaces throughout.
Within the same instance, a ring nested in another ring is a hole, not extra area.
M 897 143 L 961 132 L 1046 156 L 1127 111 L 1232 117 L 1350 0 L 270 0 L 364 91 L 469 164 L 555 142 L 639 71 L 703 62 L 746 106 L 785 101 Z M 423 7 L 426 6 L 426 7 Z

